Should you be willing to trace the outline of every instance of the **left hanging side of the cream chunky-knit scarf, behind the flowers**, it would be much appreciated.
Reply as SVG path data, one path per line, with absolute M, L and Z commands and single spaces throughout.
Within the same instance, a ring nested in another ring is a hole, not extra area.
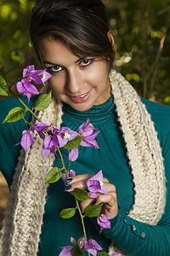
M 53 102 L 38 113 L 42 122 L 60 127 L 62 104 Z M 42 158 L 43 140 L 34 134 L 30 150 L 22 149 L 3 221 L 2 256 L 36 256 L 48 184 L 45 179 L 55 156 Z

